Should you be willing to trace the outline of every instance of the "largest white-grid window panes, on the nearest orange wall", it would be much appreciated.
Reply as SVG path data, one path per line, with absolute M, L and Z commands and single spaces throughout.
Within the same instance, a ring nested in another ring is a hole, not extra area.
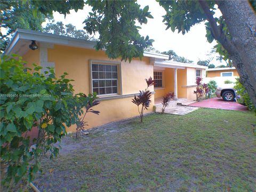
M 117 65 L 92 63 L 92 91 L 98 95 L 117 93 Z

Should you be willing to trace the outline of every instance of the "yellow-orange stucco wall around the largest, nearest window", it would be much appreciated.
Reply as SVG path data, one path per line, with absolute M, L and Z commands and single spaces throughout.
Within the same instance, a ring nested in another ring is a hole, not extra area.
M 53 49 L 47 49 L 47 61 L 53 62 L 55 65 L 56 76 L 68 73 L 67 78 L 74 79 L 75 93 L 83 92 L 90 93 L 90 60 L 102 61 L 119 61 L 119 59 L 110 60 L 103 51 L 95 51 L 82 49 L 77 47 L 69 47 L 62 45 L 54 45 Z M 28 51 L 23 55 L 24 60 L 30 63 L 39 63 L 39 53 Z M 147 86 L 145 78 L 153 77 L 153 65 L 150 64 L 149 58 L 144 57 L 142 60 L 133 59 L 131 63 L 128 61 L 121 62 L 122 78 L 122 94 L 135 94 L 139 90 L 144 90 Z M 153 87 L 150 87 L 153 91 Z M 95 110 L 100 111 L 100 115 L 87 114 L 85 121 L 88 122 L 91 128 L 94 126 L 103 125 L 113 121 L 118 121 L 125 118 L 138 116 L 138 108 L 131 102 L 133 96 L 129 98 L 102 100 Z M 151 95 L 152 103 L 146 113 L 153 111 L 154 94 Z M 76 126 L 67 127 L 68 132 L 74 132 Z

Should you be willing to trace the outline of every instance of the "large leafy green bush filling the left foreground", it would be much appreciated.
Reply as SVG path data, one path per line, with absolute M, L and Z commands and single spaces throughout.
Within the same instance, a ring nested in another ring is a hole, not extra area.
M 42 154 L 48 151 L 50 158 L 58 154 L 59 148 L 52 144 L 66 135 L 66 126 L 76 124 L 83 113 L 79 106 L 84 105 L 73 95 L 67 73 L 56 78 L 54 69 L 48 68 L 41 74 L 42 67 L 34 65 L 31 71 L 23 67 L 21 57 L 13 57 L 18 55 L 4 56 L 0 66 L 1 171 L 2 184 L 9 189 L 21 179 L 33 180 Z M 30 149 L 26 135 L 32 127 L 39 132 Z

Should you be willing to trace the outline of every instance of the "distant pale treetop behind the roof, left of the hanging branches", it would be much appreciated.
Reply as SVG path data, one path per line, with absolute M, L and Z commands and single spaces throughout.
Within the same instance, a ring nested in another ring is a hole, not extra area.
M 89 39 L 88 34 L 84 30 L 77 30 L 72 24 L 64 25 L 62 21 L 58 21 L 56 23 L 52 21 L 47 23 L 46 27 L 43 29 L 43 32 L 73 38 Z

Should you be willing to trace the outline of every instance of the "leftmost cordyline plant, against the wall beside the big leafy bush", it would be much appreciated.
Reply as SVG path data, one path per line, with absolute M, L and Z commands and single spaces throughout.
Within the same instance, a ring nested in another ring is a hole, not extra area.
M 80 132 L 85 131 L 85 126 L 87 126 L 87 122 L 84 120 L 85 115 L 87 113 L 93 113 L 99 115 L 100 111 L 93 110 L 92 107 L 99 105 L 99 101 L 97 101 L 97 93 L 89 94 L 88 96 L 83 93 L 77 94 L 78 96 L 78 103 L 77 105 L 77 113 L 78 115 L 83 115 L 81 118 L 77 119 L 76 123 L 76 139 L 78 138 L 78 134 Z M 83 111 L 83 108 L 85 109 L 85 113 Z M 84 114 L 83 114 L 84 113 Z

